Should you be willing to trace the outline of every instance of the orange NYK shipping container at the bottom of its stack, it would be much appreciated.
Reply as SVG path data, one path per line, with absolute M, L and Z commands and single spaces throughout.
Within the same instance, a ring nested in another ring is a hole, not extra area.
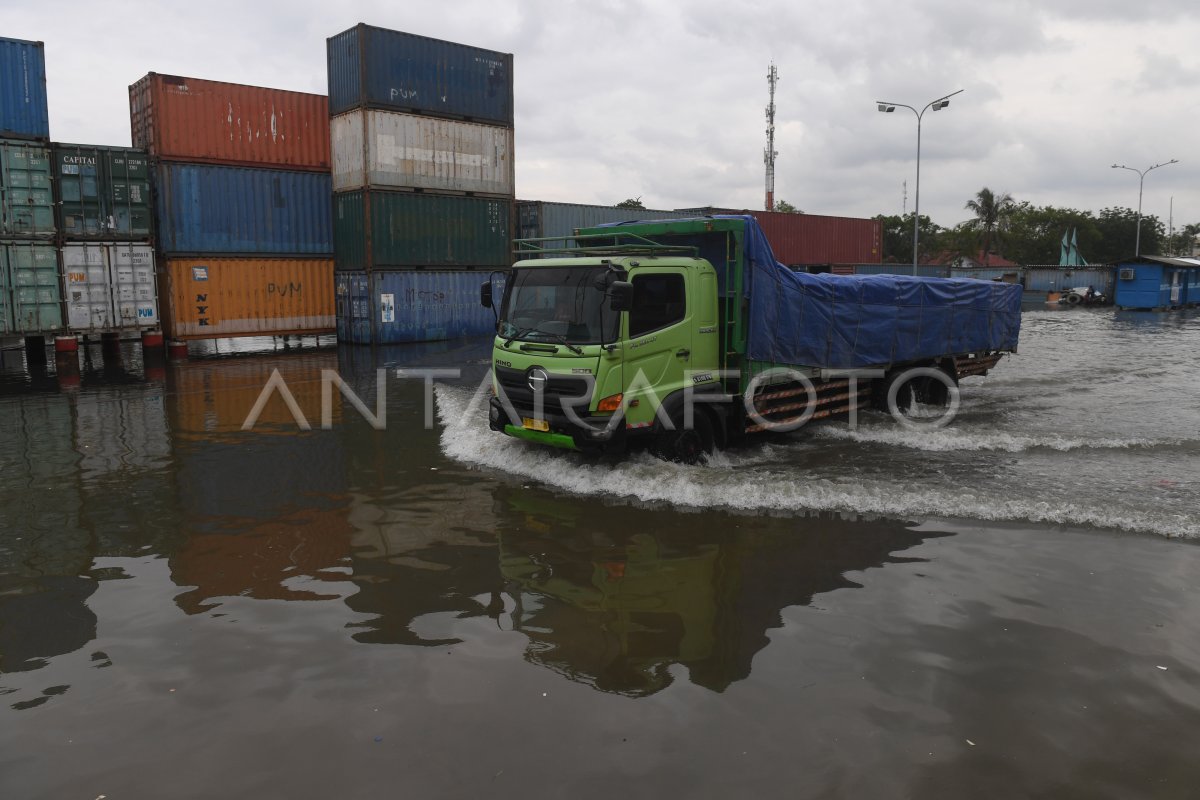
M 335 330 L 334 263 L 328 258 L 168 258 L 174 338 L 223 338 Z

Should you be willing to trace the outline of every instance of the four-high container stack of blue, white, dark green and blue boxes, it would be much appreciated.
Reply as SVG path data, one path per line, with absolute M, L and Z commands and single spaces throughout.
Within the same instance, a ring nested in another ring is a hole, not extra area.
M 494 330 L 511 253 L 512 56 L 356 25 L 328 41 L 338 338 Z

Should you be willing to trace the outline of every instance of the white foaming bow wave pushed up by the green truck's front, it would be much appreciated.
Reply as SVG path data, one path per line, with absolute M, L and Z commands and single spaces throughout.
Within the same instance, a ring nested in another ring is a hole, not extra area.
M 577 494 L 697 509 L 972 517 L 1200 537 L 1200 519 L 1182 513 L 1147 515 L 1134 509 L 989 495 L 986 487 L 934 491 L 859 476 L 797 474 L 794 468 L 772 458 L 778 445 L 721 453 L 703 467 L 666 463 L 647 455 L 617 464 L 594 462 L 492 433 L 485 423 L 486 411 L 480 404 L 473 407 L 469 391 L 438 386 L 437 404 L 443 423 L 442 450 L 448 457 Z

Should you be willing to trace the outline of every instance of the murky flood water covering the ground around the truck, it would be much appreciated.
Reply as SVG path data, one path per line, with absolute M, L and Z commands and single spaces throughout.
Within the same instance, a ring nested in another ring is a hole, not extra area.
M 0 378 L 0 798 L 1196 796 L 1200 314 L 701 467 L 492 434 L 487 363 Z

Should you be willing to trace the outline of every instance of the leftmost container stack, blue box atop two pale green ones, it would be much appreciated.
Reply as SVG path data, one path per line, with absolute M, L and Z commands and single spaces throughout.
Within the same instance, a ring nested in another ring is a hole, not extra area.
M 62 329 L 46 53 L 0 38 L 0 336 Z

